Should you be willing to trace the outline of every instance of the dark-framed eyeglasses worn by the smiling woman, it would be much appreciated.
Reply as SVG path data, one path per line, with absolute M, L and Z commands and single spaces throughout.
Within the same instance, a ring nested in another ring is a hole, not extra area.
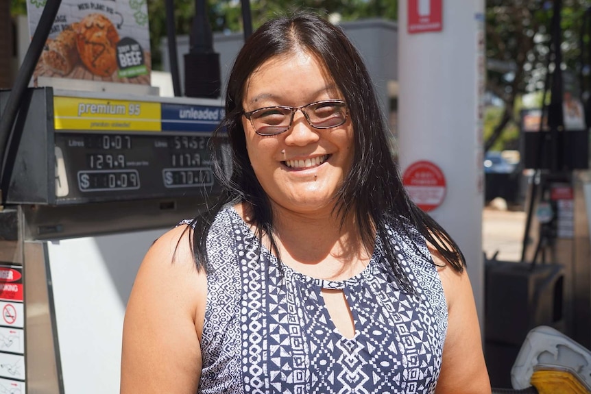
M 275 136 L 287 132 L 295 112 L 302 111 L 306 121 L 315 129 L 331 129 L 347 121 L 347 104 L 342 100 L 315 101 L 301 107 L 275 106 L 244 112 L 254 132 L 260 136 Z

